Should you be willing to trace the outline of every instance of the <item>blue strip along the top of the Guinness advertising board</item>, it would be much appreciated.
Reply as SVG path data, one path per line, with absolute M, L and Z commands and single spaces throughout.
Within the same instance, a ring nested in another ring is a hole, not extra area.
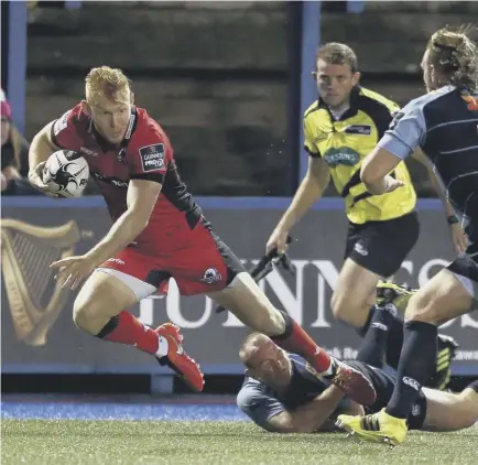
M 197 203 L 208 209 L 273 209 L 285 210 L 292 197 L 195 197 Z M 99 195 L 79 198 L 50 198 L 41 196 L 2 197 L 2 207 L 7 208 L 98 208 L 106 207 L 105 199 Z M 417 210 L 441 210 L 442 203 L 437 198 L 419 199 Z M 341 197 L 325 197 L 312 209 L 343 210 Z

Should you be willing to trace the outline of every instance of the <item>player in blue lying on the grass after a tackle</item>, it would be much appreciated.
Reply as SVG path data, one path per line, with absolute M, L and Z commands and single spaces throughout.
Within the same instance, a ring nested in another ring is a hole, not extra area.
M 371 325 L 369 331 L 380 331 Z M 365 345 L 373 345 L 366 338 Z M 379 345 L 376 345 L 376 350 Z M 379 349 L 383 354 L 383 349 Z M 371 353 L 372 350 L 368 350 Z M 361 350 L 360 354 L 366 352 Z M 253 333 L 239 352 L 247 378 L 237 397 L 238 407 L 260 428 L 276 433 L 330 431 L 340 413 L 370 414 L 390 400 L 395 378 L 366 361 L 348 361 L 373 385 L 376 402 L 363 408 L 317 374 L 303 358 Z M 369 419 L 370 417 L 365 417 Z M 408 418 L 411 430 L 454 431 L 478 421 L 478 381 L 460 393 L 422 388 Z

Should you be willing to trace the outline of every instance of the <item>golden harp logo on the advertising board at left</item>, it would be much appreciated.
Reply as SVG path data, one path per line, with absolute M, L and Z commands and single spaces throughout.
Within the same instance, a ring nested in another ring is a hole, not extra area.
M 44 346 L 68 298 L 54 280 L 52 261 L 70 257 L 82 235 L 75 221 L 40 227 L 17 219 L 1 221 L 1 270 L 17 337 Z

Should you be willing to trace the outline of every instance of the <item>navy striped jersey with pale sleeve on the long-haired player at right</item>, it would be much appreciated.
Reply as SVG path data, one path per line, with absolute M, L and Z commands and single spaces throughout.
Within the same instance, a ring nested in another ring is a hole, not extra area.
M 405 159 L 421 148 L 478 253 L 478 95 L 455 86 L 419 97 L 393 119 L 379 147 Z

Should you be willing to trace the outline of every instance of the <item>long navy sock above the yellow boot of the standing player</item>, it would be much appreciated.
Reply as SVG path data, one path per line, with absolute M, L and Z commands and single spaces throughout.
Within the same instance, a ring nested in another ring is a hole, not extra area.
M 385 409 L 390 415 L 405 419 L 412 410 L 420 389 L 435 367 L 437 333 L 437 327 L 431 323 L 405 323 L 396 385 Z

